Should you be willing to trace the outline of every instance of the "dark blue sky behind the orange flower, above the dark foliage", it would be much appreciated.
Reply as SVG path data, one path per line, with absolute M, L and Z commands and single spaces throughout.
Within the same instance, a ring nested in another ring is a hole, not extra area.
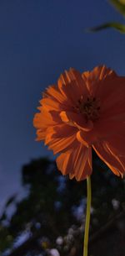
M 21 166 L 51 155 L 35 142 L 32 118 L 44 88 L 69 67 L 105 64 L 125 74 L 125 36 L 84 29 L 122 17 L 104 0 L 0 1 L 1 205 L 19 191 Z M 1 206 L 0 205 L 0 206 Z

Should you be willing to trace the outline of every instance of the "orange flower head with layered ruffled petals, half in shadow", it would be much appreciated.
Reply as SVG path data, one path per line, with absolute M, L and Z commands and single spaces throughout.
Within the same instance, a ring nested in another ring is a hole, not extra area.
M 57 156 L 57 168 L 83 180 L 92 173 L 92 148 L 115 175 L 125 173 L 125 77 L 97 66 L 65 71 L 49 86 L 33 123 L 37 140 Z

